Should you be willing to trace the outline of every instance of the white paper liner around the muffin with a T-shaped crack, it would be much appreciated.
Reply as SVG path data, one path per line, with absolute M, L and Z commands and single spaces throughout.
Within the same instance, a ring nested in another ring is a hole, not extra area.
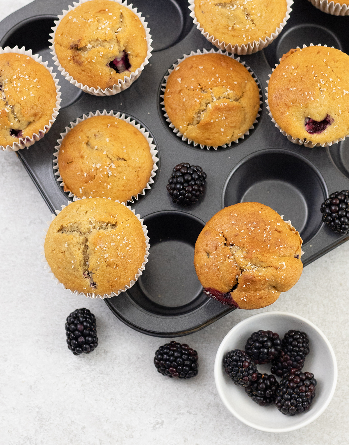
M 80 198 L 78 198 L 78 199 L 80 199 Z M 82 198 L 82 199 L 86 199 L 86 198 Z M 90 197 L 90 199 L 93 199 L 93 198 Z M 106 199 L 106 198 L 104 197 L 103 199 Z M 108 198 L 108 199 L 110 199 L 110 198 Z M 119 201 L 115 201 L 115 202 L 119 202 Z M 120 203 L 120 202 L 119 202 L 119 203 Z M 68 205 L 69 205 L 69 204 L 72 204 L 72 202 L 71 202 L 71 201 L 68 201 Z M 46 258 L 45 258 L 45 238 L 46 238 L 47 231 L 49 230 L 49 227 L 47 227 L 47 228 L 44 229 L 45 236 L 42 236 L 42 239 L 43 239 L 44 241 L 43 241 L 43 243 L 41 243 L 41 246 L 42 246 L 42 248 L 43 248 L 44 250 L 41 252 L 41 255 L 43 255 L 44 258 L 41 260 L 41 262 L 44 263 L 44 269 L 45 269 L 45 271 L 46 271 L 47 273 L 49 273 L 49 274 L 52 275 L 52 276 L 51 276 L 51 279 L 55 281 L 55 284 L 56 284 L 56 285 L 61 285 L 61 286 L 63 287 L 64 290 L 69 291 L 72 295 L 73 295 L 73 294 L 76 294 L 76 295 L 79 295 L 79 296 L 80 296 L 80 295 L 84 295 L 84 296 L 87 297 L 87 298 L 93 298 L 93 299 L 101 298 L 101 299 L 104 299 L 104 298 L 111 298 L 111 297 L 114 297 L 115 295 L 119 295 L 121 292 L 125 292 L 125 291 L 127 291 L 128 289 L 130 289 L 130 288 L 134 285 L 134 283 L 136 283 L 136 281 L 138 280 L 138 278 L 142 275 L 142 273 L 143 273 L 143 271 L 144 271 L 144 269 L 145 269 L 145 265 L 146 265 L 146 263 L 148 263 L 148 256 L 149 256 L 149 249 L 150 249 L 148 230 L 147 230 L 147 228 L 146 228 L 146 225 L 143 224 L 143 219 L 141 219 L 141 215 L 136 215 L 135 210 L 132 210 L 130 206 L 126 206 L 124 202 L 122 202 L 121 204 L 122 204 L 123 206 L 127 207 L 129 210 L 131 210 L 131 212 L 136 216 L 136 218 L 138 219 L 138 221 L 139 221 L 139 222 L 141 223 L 141 225 L 142 225 L 142 229 L 143 229 L 144 237 L 145 237 L 145 239 L 146 239 L 146 254 L 144 255 L 144 261 L 143 261 L 143 263 L 142 263 L 142 266 L 138 268 L 138 273 L 135 275 L 134 279 L 132 279 L 132 280 L 130 281 L 130 284 L 128 284 L 128 285 L 122 287 L 122 289 L 119 289 L 119 290 L 116 291 L 116 292 L 111 292 L 110 294 L 103 294 L 103 295 L 95 294 L 94 292 L 92 292 L 92 293 L 87 292 L 87 293 L 85 294 L 85 292 L 79 292 L 79 291 L 77 291 L 77 290 L 72 290 L 72 289 L 69 289 L 69 288 L 65 287 L 65 285 L 64 285 L 63 283 L 61 283 L 61 282 L 59 281 L 59 279 L 56 278 L 56 277 L 54 276 L 53 271 L 51 270 L 51 267 L 49 266 L 49 263 L 46 261 Z M 66 206 L 63 206 L 63 205 L 62 205 L 61 207 L 62 207 L 62 210 L 63 210 Z M 55 210 L 55 212 L 56 212 L 56 214 L 58 215 L 59 213 L 61 213 L 61 210 Z M 56 215 L 55 215 L 55 214 L 52 214 L 52 221 L 54 220 L 54 218 L 56 218 Z M 47 225 L 50 226 L 50 224 L 52 223 L 52 221 L 47 221 Z

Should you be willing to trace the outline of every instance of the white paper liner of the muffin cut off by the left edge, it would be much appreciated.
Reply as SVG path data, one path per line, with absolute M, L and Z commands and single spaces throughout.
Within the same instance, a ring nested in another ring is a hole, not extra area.
M 15 46 L 14 48 L 10 48 L 9 46 L 6 46 L 4 49 L 2 49 L 0 46 L 0 54 L 4 54 L 4 53 L 18 53 L 18 54 L 23 54 L 24 56 L 31 57 L 34 61 L 45 66 L 45 68 L 51 74 L 53 81 L 56 85 L 56 94 L 57 94 L 56 106 L 53 108 L 53 113 L 52 113 L 51 119 L 49 120 L 49 123 L 46 124 L 42 130 L 40 129 L 38 134 L 33 133 L 31 138 L 29 138 L 29 136 L 26 136 L 24 139 L 20 138 L 18 142 L 13 142 L 12 146 L 11 145 L 7 145 L 7 146 L 0 145 L 0 150 L 18 151 L 18 150 L 24 149 L 24 147 L 27 147 L 27 148 L 30 147 L 31 145 L 34 144 L 34 142 L 37 142 L 37 141 L 39 141 L 39 139 L 43 138 L 44 135 L 49 131 L 53 122 L 56 120 L 56 117 L 58 116 L 59 109 L 61 108 L 61 105 L 60 105 L 61 93 L 59 92 L 61 87 L 60 87 L 60 85 L 58 85 L 58 79 L 56 79 L 56 73 L 54 73 L 52 71 L 52 68 L 49 68 L 47 66 L 48 62 L 43 62 L 42 57 L 39 56 L 39 54 L 32 54 L 31 49 L 28 49 L 28 51 L 26 51 L 24 46 L 22 46 L 22 48 L 20 48 L 20 49 L 18 48 L 18 46 Z

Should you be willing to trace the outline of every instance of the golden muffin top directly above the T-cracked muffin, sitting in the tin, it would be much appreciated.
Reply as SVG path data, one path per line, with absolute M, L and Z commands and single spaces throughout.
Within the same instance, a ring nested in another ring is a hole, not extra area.
M 153 159 L 146 138 L 133 125 L 113 116 L 94 116 L 65 136 L 58 168 L 64 191 L 79 198 L 127 202 L 146 187 Z

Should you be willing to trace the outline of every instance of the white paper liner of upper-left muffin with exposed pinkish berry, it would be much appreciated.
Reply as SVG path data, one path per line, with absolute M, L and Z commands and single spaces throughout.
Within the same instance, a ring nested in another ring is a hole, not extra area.
M 129 86 L 136 80 L 138 79 L 138 77 L 141 75 L 144 67 L 149 63 L 149 58 L 151 57 L 151 52 L 153 51 L 153 48 L 151 46 L 151 42 L 153 41 L 150 35 L 150 28 L 147 28 L 148 23 L 146 21 L 144 21 L 144 17 L 141 16 L 141 12 L 137 12 L 137 8 L 132 8 L 132 3 L 130 5 L 127 4 L 127 0 L 122 1 L 122 0 L 110 0 L 110 1 L 114 1 L 116 3 L 121 4 L 122 6 L 129 8 L 132 12 L 134 12 L 134 14 L 136 14 L 136 16 L 139 18 L 139 20 L 141 20 L 141 23 L 144 27 L 144 30 L 146 32 L 146 43 L 148 45 L 148 50 L 146 53 L 146 58 L 144 59 L 144 62 L 142 63 L 142 65 L 136 69 L 135 72 L 130 73 L 130 76 L 125 76 L 124 80 L 119 79 L 117 84 L 113 85 L 113 88 L 106 88 L 106 89 L 101 89 L 101 88 L 97 88 L 95 89 L 94 87 L 89 87 L 87 85 L 83 85 L 81 82 L 78 82 L 77 80 L 75 80 L 72 76 L 70 76 L 70 74 L 68 73 L 68 71 L 65 70 L 65 68 L 63 68 L 63 66 L 59 63 L 56 51 L 54 49 L 54 37 L 56 34 L 56 30 L 58 25 L 61 23 L 61 20 L 63 19 L 64 16 L 66 16 L 68 14 L 68 12 L 73 11 L 73 9 L 75 9 L 77 6 L 79 6 L 82 3 L 85 3 L 87 1 L 90 0 L 79 0 L 78 2 L 73 1 L 74 6 L 69 5 L 68 7 L 68 11 L 63 9 L 62 14 L 58 15 L 58 19 L 59 20 L 55 20 L 54 23 L 56 26 L 53 26 L 52 29 L 52 33 L 49 34 L 49 36 L 51 37 L 49 39 L 49 42 L 51 43 L 51 45 L 49 46 L 49 49 L 51 49 L 51 54 L 53 55 L 52 59 L 54 61 L 54 64 L 58 66 L 59 71 L 61 71 L 62 76 L 64 76 L 66 78 L 67 81 L 69 81 L 71 84 L 77 86 L 77 88 L 82 89 L 82 91 L 85 91 L 85 93 L 89 93 L 92 94 L 93 96 L 114 96 L 114 94 L 118 94 L 121 91 L 124 91 L 125 89 L 129 88 Z

